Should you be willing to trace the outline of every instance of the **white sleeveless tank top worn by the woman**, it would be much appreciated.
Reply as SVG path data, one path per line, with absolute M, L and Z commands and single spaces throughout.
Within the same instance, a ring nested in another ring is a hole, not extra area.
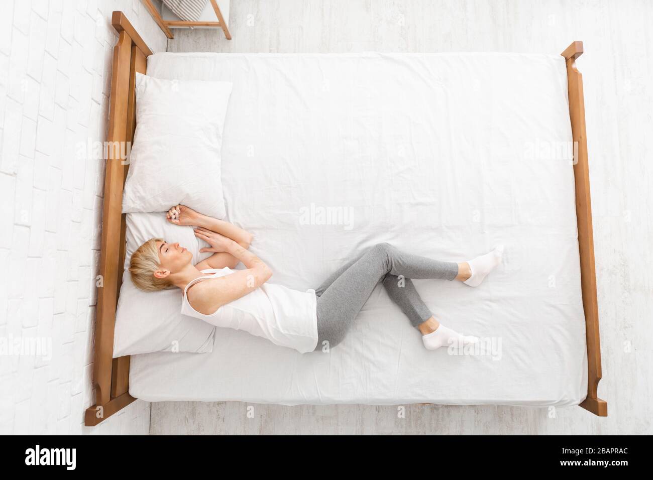
M 212 315 L 197 312 L 186 295 L 191 285 L 208 278 L 218 278 L 233 273 L 226 267 L 202 270 L 204 277 L 196 278 L 183 290 L 182 314 L 199 318 L 216 327 L 245 330 L 267 338 L 276 345 L 291 347 L 306 353 L 317 345 L 317 299 L 315 290 L 306 292 L 289 289 L 283 285 L 264 283 L 245 296 L 218 308 Z

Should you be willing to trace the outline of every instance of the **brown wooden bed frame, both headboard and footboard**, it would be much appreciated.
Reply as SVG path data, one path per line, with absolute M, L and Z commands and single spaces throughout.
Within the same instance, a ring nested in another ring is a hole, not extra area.
M 145 73 L 150 48 L 140 38 L 122 12 L 113 12 L 112 25 L 118 33 L 114 48 L 111 78 L 110 118 L 108 142 L 133 140 L 136 127 L 135 74 Z M 585 108 L 582 96 L 582 76 L 577 71 L 575 59 L 582 54 L 582 42 L 573 42 L 563 53 L 567 62 L 569 86 L 569 117 L 573 140 L 577 149 L 574 175 L 576 184 L 576 215 L 578 241 L 581 255 L 582 304 L 585 312 L 588 389 L 581 403 L 594 415 L 607 415 L 607 403 L 597 397 L 601 379 L 601 349 L 599 345 L 599 318 L 596 300 L 596 274 L 594 270 L 594 240 L 592 239 L 592 208 L 590 180 L 585 138 Z M 115 143 L 110 143 L 115 145 Z M 575 149 L 575 150 L 576 150 Z M 123 152 L 125 150 L 122 150 Z M 109 152 L 104 179 L 104 211 L 100 272 L 103 286 L 98 289 L 97 319 L 95 323 L 95 360 L 93 387 L 95 405 L 86 409 L 86 425 L 96 425 L 136 400 L 129 395 L 129 357 L 113 358 L 116 305 L 125 261 L 125 216 L 122 212 L 122 193 L 127 168 L 118 151 Z

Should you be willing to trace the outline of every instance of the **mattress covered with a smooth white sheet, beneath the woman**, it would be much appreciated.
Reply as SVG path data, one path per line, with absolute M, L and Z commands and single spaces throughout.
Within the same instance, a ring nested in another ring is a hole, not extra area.
M 272 282 L 305 290 L 377 242 L 464 261 L 502 242 L 476 289 L 417 280 L 479 336 L 427 351 L 379 286 L 328 353 L 218 328 L 212 353 L 131 358 L 143 400 L 570 406 L 587 389 L 565 62 L 523 54 L 155 54 L 148 74 L 233 82 L 229 219 Z M 171 240 L 172 241 L 172 240 Z M 467 352 L 470 353 L 470 352 Z

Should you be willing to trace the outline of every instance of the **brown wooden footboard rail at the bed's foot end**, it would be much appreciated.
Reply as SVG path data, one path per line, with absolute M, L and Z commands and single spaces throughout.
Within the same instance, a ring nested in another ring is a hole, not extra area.
M 576 59 L 582 55 L 582 42 L 573 42 L 562 52 L 567 63 L 567 89 L 569 91 L 569 118 L 574 141 L 574 181 L 576 184 L 576 218 L 578 246 L 581 255 L 582 308 L 585 312 L 587 338 L 587 398 L 581 407 L 605 417 L 608 404 L 598 398 L 601 380 L 601 344 L 599 339 L 599 312 L 596 300 L 596 268 L 594 266 L 594 236 L 592 234 L 592 202 L 590 201 L 590 170 L 587 159 L 585 131 L 585 103 L 582 93 L 582 75 L 576 69 Z

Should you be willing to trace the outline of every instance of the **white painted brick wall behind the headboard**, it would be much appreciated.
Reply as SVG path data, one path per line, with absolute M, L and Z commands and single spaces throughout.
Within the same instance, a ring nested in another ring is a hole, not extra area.
M 151 50 L 140 0 L 3 0 L 0 15 L 0 340 L 42 338 L 52 359 L 0 350 L 0 434 L 147 434 L 137 400 L 84 426 L 91 390 L 113 10 Z M 2 346 L 0 345 L 0 349 Z

